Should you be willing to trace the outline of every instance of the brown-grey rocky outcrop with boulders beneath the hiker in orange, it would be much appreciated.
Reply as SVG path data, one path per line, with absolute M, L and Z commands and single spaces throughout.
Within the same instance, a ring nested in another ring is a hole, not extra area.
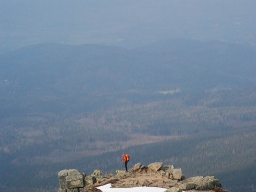
M 100 191 L 97 187 L 108 183 L 111 183 L 113 188 L 148 186 L 166 188 L 165 192 L 225 192 L 221 189 L 219 180 L 213 176 L 185 178 L 181 169 L 174 169 L 173 165 L 158 162 L 148 166 L 137 163 L 129 172 L 117 170 L 115 175 L 102 176 L 100 170 L 95 170 L 86 177 L 85 173 L 81 174 L 77 170 L 62 170 L 58 176 L 59 192 Z

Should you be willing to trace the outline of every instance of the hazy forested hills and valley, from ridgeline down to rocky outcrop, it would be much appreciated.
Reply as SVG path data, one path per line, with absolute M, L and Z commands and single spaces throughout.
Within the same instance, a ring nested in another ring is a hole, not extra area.
M 255 53 L 182 39 L 1 54 L 0 190 L 57 191 L 58 171 L 115 173 L 129 153 L 130 167 L 163 162 L 255 191 Z

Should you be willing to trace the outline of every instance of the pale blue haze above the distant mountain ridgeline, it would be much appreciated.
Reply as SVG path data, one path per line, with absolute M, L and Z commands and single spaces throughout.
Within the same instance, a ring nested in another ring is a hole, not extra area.
M 0 0 L 0 48 L 44 42 L 134 47 L 165 38 L 255 44 L 255 10 L 255 0 Z

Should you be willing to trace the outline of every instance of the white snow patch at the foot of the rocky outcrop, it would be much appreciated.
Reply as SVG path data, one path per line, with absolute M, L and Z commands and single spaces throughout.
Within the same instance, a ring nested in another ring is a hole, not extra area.
M 163 192 L 165 188 L 159 187 L 132 187 L 132 188 L 110 188 L 111 184 L 97 187 L 102 192 Z

